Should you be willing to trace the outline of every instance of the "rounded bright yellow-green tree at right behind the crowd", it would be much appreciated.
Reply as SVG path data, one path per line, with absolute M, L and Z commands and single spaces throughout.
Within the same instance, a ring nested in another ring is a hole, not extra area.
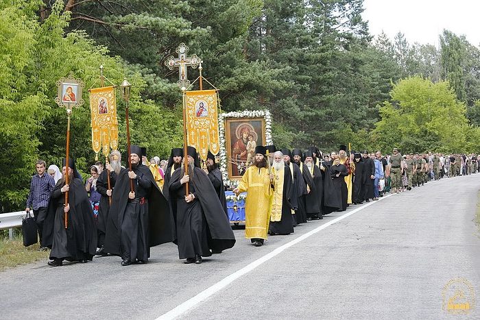
M 383 150 L 398 146 L 405 152 L 466 151 L 466 108 L 448 82 L 409 77 L 400 80 L 390 95 L 392 101 L 384 101 L 381 121 L 372 132 L 376 146 Z

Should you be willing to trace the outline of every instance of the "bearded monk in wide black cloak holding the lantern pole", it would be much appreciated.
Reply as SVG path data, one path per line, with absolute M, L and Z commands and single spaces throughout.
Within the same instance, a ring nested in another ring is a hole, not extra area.
M 150 247 L 174 238 L 167 200 L 150 169 L 141 163 L 141 155 L 139 146 L 130 147 L 132 171 L 121 169 L 108 213 L 105 251 L 121 256 L 122 266 L 147 263 Z

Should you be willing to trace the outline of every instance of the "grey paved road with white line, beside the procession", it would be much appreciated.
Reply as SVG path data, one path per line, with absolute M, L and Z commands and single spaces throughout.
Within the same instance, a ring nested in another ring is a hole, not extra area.
M 168 244 L 145 265 L 109 256 L 17 267 L 0 273 L 0 318 L 156 319 L 174 308 L 180 319 L 451 318 L 442 310 L 449 280 L 468 280 L 480 301 L 479 189 L 480 174 L 431 182 L 259 248 L 236 230 L 233 249 L 200 265 Z M 480 319 L 473 308 L 468 318 Z

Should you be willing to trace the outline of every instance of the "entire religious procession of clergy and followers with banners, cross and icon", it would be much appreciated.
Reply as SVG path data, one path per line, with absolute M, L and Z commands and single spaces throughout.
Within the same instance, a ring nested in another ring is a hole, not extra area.
M 158 156 L 148 160 L 147 148 L 130 144 L 126 78 L 120 89 L 127 145 L 119 146 L 117 86 L 106 86 L 110 80 L 100 66 L 99 86 L 88 92 L 92 149 L 105 164 L 97 161 L 84 184 L 69 152 L 71 115 L 84 103 L 84 84 L 73 75 L 59 80 L 56 102 L 67 111 L 62 173 L 53 165 L 45 175 L 45 161 L 38 160 L 25 209 L 34 212 L 41 249 L 50 249 L 49 266 L 108 255 L 119 256 L 122 266 L 145 264 L 150 247 L 171 242 L 185 264 L 201 264 L 234 247 L 232 225 L 244 224 L 245 238 L 261 247 L 268 235 L 292 234 L 350 205 L 478 172 L 474 154 L 402 155 L 394 147 L 383 156 L 354 151 L 350 143 L 329 153 L 317 146 L 278 149 L 268 110 L 219 114 L 218 90 L 202 76 L 202 60 L 188 51 L 182 43 L 178 58 L 165 62 L 178 68 L 184 144 L 171 149 L 161 167 Z M 200 71 L 192 83 L 187 67 Z M 204 81 L 213 89 L 204 90 Z M 196 83 L 200 90 L 191 90 Z M 123 163 L 119 149 L 126 151 Z

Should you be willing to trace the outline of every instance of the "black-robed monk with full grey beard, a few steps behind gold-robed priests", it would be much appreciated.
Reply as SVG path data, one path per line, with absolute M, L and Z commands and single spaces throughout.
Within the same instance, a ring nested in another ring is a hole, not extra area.
M 311 178 L 313 181 L 312 186 L 307 187 L 307 191 L 310 189 L 310 192 L 305 196 L 307 220 L 323 219 L 321 210 L 322 197 L 324 194 L 322 171 L 320 171 L 320 168 L 315 164 L 313 153 L 310 150 L 305 151 L 304 158 L 304 164 L 307 167 L 304 173 L 307 175 L 307 180 Z

